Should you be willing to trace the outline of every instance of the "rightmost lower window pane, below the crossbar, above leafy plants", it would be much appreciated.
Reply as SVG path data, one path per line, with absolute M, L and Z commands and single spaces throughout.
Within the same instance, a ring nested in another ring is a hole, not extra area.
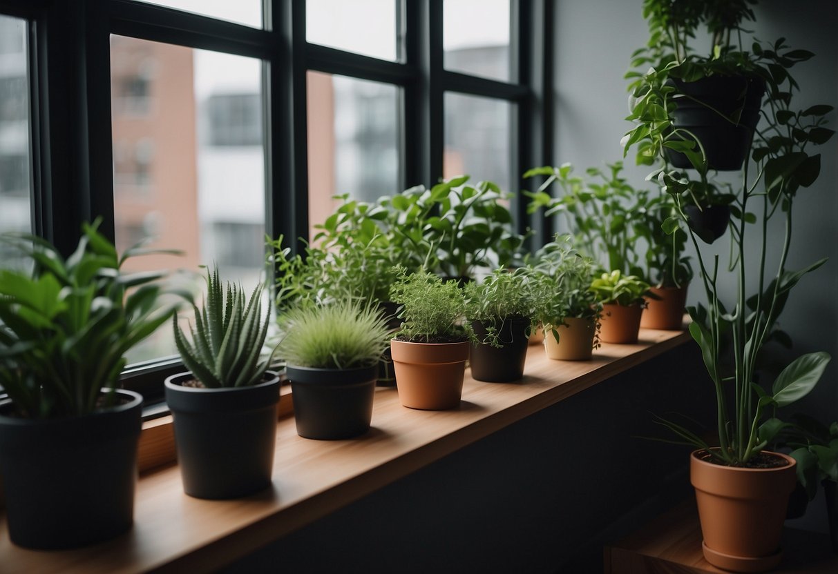
M 445 95 L 444 177 L 468 174 L 511 191 L 510 118 L 513 104 L 472 95 Z

